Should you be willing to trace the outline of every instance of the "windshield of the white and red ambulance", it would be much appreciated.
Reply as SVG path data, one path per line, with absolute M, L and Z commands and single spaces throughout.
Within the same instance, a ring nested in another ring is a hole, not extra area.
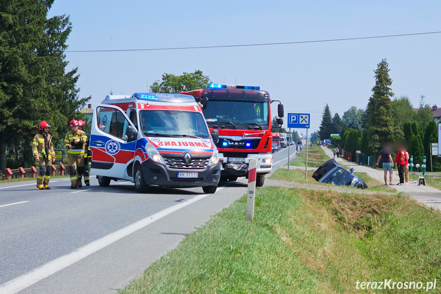
M 178 110 L 141 110 L 140 128 L 146 137 L 190 137 L 211 139 L 200 112 Z

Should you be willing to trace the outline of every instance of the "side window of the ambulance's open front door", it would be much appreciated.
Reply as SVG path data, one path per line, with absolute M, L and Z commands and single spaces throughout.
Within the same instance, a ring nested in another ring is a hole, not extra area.
M 103 132 L 123 139 L 125 126 L 128 122 L 122 112 L 114 108 L 98 107 L 97 113 L 98 128 Z

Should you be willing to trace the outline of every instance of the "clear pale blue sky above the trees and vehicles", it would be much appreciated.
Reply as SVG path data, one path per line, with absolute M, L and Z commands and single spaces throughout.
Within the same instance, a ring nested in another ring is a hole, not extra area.
M 296 42 L 441 31 L 439 1 L 62 1 L 70 15 L 68 50 L 118 50 Z M 219 49 L 66 53 L 78 66 L 80 96 L 98 105 L 114 94 L 146 92 L 163 73 L 202 70 L 215 83 L 259 85 L 285 113 L 326 103 L 340 116 L 364 108 L 374 70 L 386 58 L 392 91 L 441 106 L 441 34 Z M 276 114 L 273 103 L 272 116 Z M 285 117 L 285 125 L 286 125 Z M 297 130 L 299 133 L 301 130 Z

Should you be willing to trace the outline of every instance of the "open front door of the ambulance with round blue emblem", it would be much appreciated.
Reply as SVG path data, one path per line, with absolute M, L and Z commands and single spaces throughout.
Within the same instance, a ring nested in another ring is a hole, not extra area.
M 99 105 L 90 132 L 90 173 L 133 181 L 137 130 L 124 111 L 114 105 Z

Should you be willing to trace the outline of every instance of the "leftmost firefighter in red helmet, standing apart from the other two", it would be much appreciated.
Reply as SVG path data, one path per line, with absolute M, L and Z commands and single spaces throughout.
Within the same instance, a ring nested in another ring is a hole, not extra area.
M 55 161 L 55 151 L 52 136 L 49 134 L 50 127 L 47 121 L 42 121 L 38 126 L 40 132 L 32 141 L 32 153 L 35 162 L 40 166 L 37 174 L 37 188 L 40 190 L 51 189 L 49 179 L 52 173 L 52 161 Z

